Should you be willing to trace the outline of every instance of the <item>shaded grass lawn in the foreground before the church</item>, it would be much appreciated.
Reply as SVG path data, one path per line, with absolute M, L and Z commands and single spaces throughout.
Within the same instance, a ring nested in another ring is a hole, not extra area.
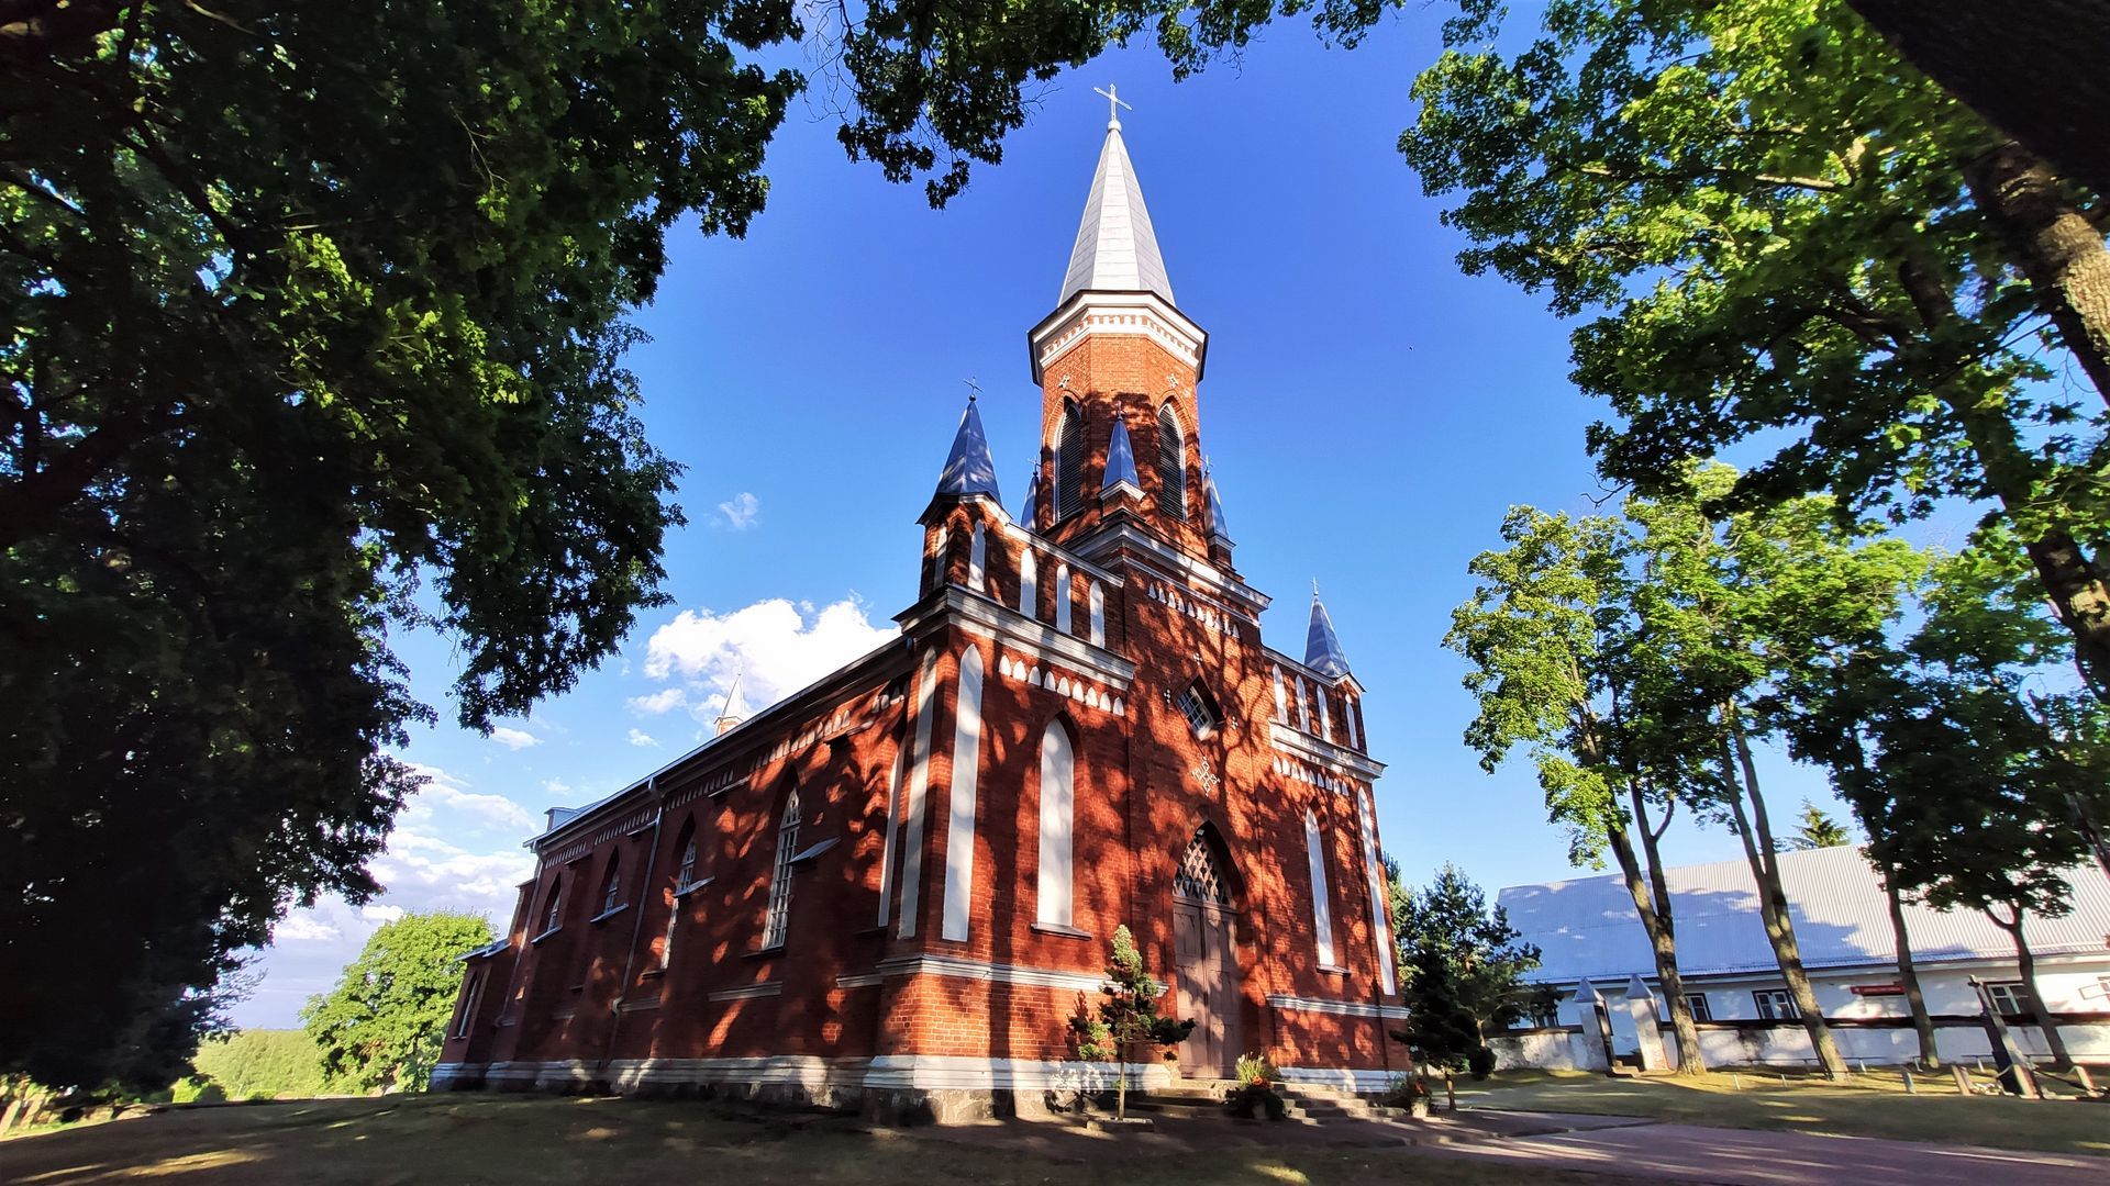
M 1255 1129 L 1243 1129 L 1247 1133 Z M 1310 1129 L 1304 1129 L 1306 1133 Z M 1139 1152 L 1133 1137 L 1061 1137 L 1049 1154 L 992 1129 L 865 1129 L 836 1116 L 738 1116 L 698 1102 L 409 1095 L 181 1108 L 0 1142 L 0 1182 L 257 1186 L 629 1182 L 1399 1182 L 1498 1186 L 1515 1167 L 1399 1148 L 1222 1146 Z M 1536 1173 L 1610 1186 L 1616 1178 Z

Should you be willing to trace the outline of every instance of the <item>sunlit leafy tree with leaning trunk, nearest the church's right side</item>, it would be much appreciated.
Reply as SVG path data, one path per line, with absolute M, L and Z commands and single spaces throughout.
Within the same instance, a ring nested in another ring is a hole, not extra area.
M 1633 536 L 1612 517 L 1547 515 L 1513 506 L 1500 551 L 1473 557 L 1479 582 L 1452 610 L 1443 646 L 1471 663 L 1464 686 L 1477 715 L 1464 730 L 1483 770 L 1517 747 L 1538 768 L 1547 817 L 1568 831 L 1568 859 L 1618 865 L 1648 933 L 1656 981 L 1671 1007 L 1677 1074 L 1701 1074 L 1699 1026 L 1677 971 L 1677 929 L 1658 842 L 1688 770 L 1667 766 L 1663 728 L 1642 703 L 1669 675 L 1642 646 L 1631 612 Z

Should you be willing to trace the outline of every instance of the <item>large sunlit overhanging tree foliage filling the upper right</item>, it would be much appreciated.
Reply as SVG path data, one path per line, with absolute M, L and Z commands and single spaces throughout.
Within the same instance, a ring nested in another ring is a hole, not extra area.
M 2110 696 L 2099 196 L 1840 0 L 1553 0 L 1515 53 L 1498 19 L 1466 0 L 1445 27 L 1401 150 L 1458 194 L 1469 272 L 1597 314 L 1572 348 L 1618 414 L 1591 431 L 1604 473 L 1661 492 L 1749 441 L 1772 456 L 1737 504 L 1986 498 Z

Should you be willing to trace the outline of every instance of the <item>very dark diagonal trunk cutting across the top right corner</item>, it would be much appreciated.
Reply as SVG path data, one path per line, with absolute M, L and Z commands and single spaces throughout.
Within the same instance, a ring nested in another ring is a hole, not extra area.
M 2110 196 L 2110 4 L 1846 0 L 1905 61 L 2061 173 Z

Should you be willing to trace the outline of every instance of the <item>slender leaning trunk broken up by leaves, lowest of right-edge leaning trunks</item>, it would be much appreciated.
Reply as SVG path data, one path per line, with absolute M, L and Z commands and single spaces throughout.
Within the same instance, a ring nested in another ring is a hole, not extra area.
M 1956 306 L 1941 281 L 1916 260 L 1899 264 L 1897 276 L 1929 333 L 1943 336 L 1956 321 Z M 1962 424 L 1986 471 L 1986 485 L 2007 509 L 2009 519 L 2015 523 L 2034 519 L 2034 511 L 2040 511 L 2032 504 L 2038 494 L 2036 464 L 2021 447 L 2015 422 L 2000 405 L 1981 401 L 1977 390 L 1945 384 L 1937 395 Z M 2110 582 L 2064 528 L 2042 528 L 2034 538 L 2023 534 L 2023 551 L 2059 623 L 2074 633 L 2074 665 L 2083 682 L 2097 701 L 2110 703 Z

